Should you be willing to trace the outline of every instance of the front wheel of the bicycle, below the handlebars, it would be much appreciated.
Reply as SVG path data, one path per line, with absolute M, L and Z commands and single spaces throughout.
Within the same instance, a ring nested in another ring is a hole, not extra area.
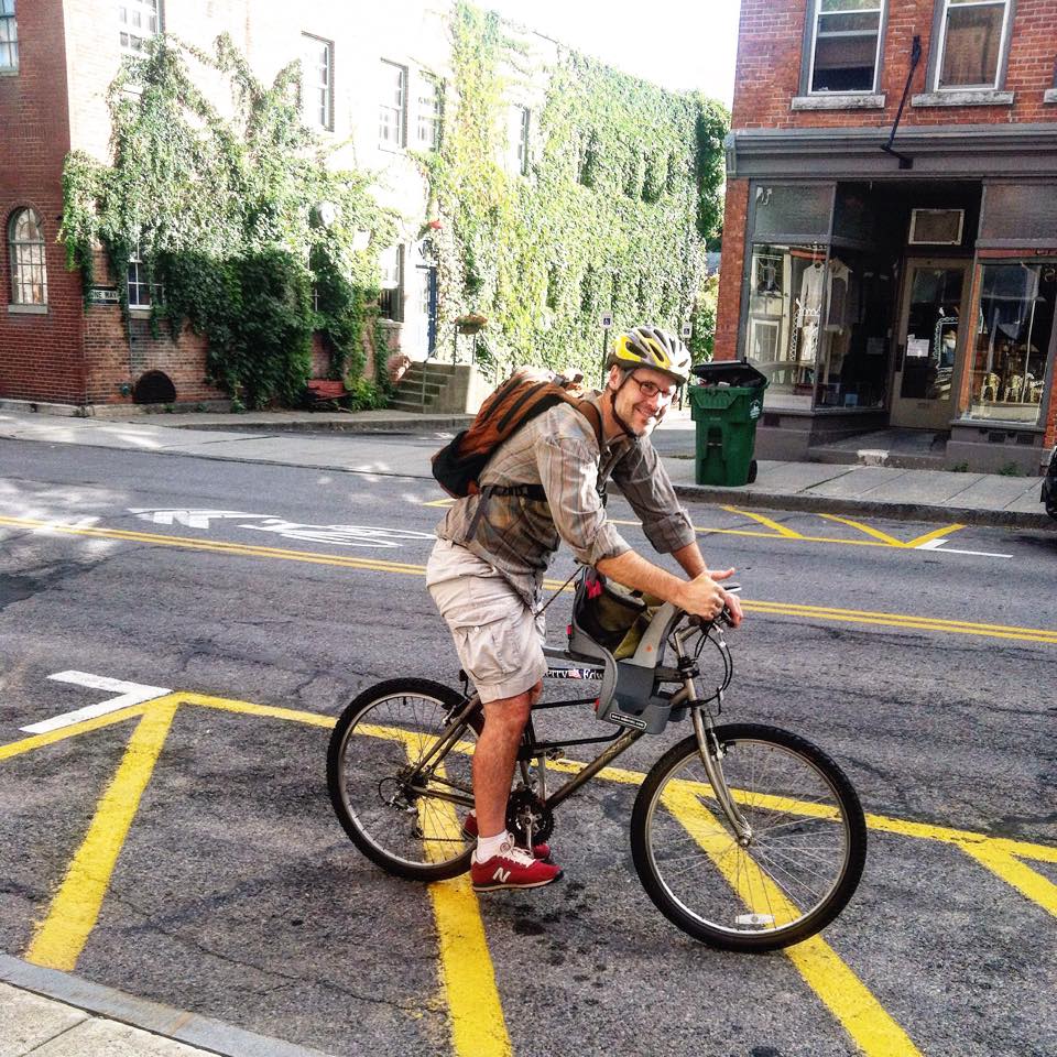
M 631 819 L 635 869 L 657 908 L 726 950 L 800 942 L 847 905 L 862 876 L 859 797 L 820 749 L 776 727 L 715 731 L 719 763 L 751 827 L 739 841 L 686 738 L 646 775 Z

